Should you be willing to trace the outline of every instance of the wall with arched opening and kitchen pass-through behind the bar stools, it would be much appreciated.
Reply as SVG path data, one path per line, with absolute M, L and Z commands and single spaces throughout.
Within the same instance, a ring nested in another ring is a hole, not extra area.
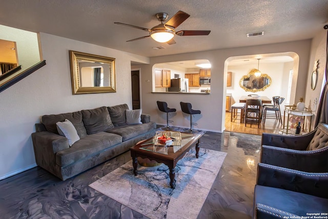
M 299 56 L 297 95 L 305 95 L 304 86 L 308 72 L 311 40 L 295 41 L 280 44 L 260 45 L 233 49 L 221 49 L 213 51 L 168 55 L 152 57 L 150 65 L 141 65 L 141 107 L 144 112 L 151 115 L 153 121 L 165 124 L 165 115 L 157 109 L 156 101 L 166 101 L 170 108 L 176 108 L 177 113 L 172 117 L 173 125 L 189 127 L 189 117 L 182 114 L 180 101 L 190 102 L 194 109 L 201 110 L 201 115 L 196 115 L 194 122 L 198 123 L 195 128 L 222 132 L 224 130 L 224 118 L 226 115 L 226 89 L 228 71 L 227 58 L 242 55 L 269 54 L 282 52 L 295 52 Z M 177 62 L 192 59 L 208 59 L 211 67 L 211 94 L 172 94 L 152 93 L 152 68 L 156 63 Z M 150 82 L 146 82 L 150 80 Z

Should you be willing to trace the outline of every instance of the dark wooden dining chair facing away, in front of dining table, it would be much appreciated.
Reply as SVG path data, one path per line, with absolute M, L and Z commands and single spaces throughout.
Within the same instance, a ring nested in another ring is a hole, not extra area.
M 245 109 L 245 126 L 247 123 L 257 123 L 257 127 L 260 127 L 261 123 L 261 99 L 247 99 Z

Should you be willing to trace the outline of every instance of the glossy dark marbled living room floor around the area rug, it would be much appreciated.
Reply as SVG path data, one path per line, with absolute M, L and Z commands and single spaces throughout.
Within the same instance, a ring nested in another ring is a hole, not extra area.
M 252 218 L 260 141 L 235 132 L 201 137 L 200 147 L 228 154 L 198 218 Z M 126 152 L 66 181 L 39 167 L 6 178 L 0 218 L 147 218 L 88 186 L 129 160 Z

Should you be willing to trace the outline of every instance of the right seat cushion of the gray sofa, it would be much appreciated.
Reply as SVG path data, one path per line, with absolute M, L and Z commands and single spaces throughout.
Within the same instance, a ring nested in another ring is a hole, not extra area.
M 106 132 L 119 134 L 120 136 L 122 136 L 122 142 L 125 142 L 133 137 L 136 137 L 141 134 L 145 134 L 154 129 L 156 129 L 156 123 L 149 122 L 149 123 L 137 124 L 137 125 L 119 126 L 107 130 Z

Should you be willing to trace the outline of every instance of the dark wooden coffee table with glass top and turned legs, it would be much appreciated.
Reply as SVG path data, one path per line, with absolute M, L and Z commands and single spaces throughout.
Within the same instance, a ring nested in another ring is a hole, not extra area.
M 148 140 L 137 144 L 130 148 L 133 173 L 137 175 L 138 161 L 137 157 L 148 158 L 149 160 L 156 161 L 167 165 L 170 169 L 170 186 L 175 188 L 175 166 L 177 162 L 185 156 L 189 149 L 193 146 L 196 148 L 196 158 L 199 152 L 199 138 L 203 134 L 191 134 L 181 132 L 181 145 L 180 146 L 156 146 L 153 143 L 153 137 Z

